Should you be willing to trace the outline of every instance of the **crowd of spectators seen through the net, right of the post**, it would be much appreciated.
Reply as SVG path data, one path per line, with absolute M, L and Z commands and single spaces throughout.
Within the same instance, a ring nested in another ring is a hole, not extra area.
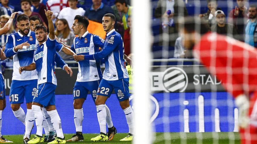
M 234 3 L 236 4 L 234 5 L 236 6 L 231 9 L 228 8 L 227 3 L 218 5 L 219 2 L 223 1 L 201 1 L 206 2 L 208 9 L 199 15 L 196 12 L 192 14 L 187 10 L 190 8 L 187 2 L 190 1 L 158 0 L 157 7 L 154 9 L 154 18 L 160 19 L 161 22 L 159 26 L 161 36 L 159 36 L 158 44 L 155 45 L 174 47 L 174 55 L 169 56 L 169 58 L 192 57 L 190 54 L 185 54 L 185 48 L 181 44 L 181 37 L 179 37 L 178 17 L 187 15 L 195 15 L 208 22 L 212 32 L 228 35 L 257 48 L 257 5 L 254 1 L 235 0 Z M 191 1 L 190 4 L 195 3 Z M 195 5 L 195 7 L 200 6 Z M 227 11 L 228 15 L 225 14 Z M 165 44 L 162 33 L 169 34 L 168 44 Z

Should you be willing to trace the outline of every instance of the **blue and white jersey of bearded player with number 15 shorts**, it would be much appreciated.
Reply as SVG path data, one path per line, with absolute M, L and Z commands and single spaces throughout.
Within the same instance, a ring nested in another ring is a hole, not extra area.
M 14 51 L 14 47 L 28 41 L 30 47 Z M 29 31 L 27 36 L 24 36 L 18 31 L 8 35 L 4 53 L 6 57 L 13 56 L 13 80 L 32 80 L 37 79 L 37 71 L 24 71 L 19 73 L 19 67 L 30 65 L 33 62 L 33 54 L 35 50 L 36 37 L 33 31 Z

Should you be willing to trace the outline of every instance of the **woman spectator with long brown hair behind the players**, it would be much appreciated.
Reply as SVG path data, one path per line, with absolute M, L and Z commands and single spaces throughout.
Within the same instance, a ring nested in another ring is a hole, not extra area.
M 75 38 L 75 35 L 69 29 L 69 24 L 66 19 L 58 19 L 57 20 L 55 35 L 65 45 L 72 45 L 73 39 Z M 59 52 L 59 54 L 62 57 L 62 59 L 64 59 L 64 60 L 72 60 L 73 59 L 73 56 L 68 56 L 68 55 L 64 54 L 62 51 Z

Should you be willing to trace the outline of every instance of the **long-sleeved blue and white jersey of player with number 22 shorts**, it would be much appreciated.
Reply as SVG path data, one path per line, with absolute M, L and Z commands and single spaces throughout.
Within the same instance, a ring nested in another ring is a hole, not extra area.
M 114 81 L 129 78 L 124 61 L 124 44 L 121 35 L 112 29 L 107 33 L 104 48 L 95 54 L 84 56 L 86 60 L 105 59 L 105 70 L 103 79 Z

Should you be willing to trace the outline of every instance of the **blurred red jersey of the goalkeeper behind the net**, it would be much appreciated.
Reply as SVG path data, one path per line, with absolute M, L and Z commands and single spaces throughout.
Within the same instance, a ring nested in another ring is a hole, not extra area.
M 254 47 L 217 33 L 207 33 L 193 52 L 234 97 L 257 91 L 257 50 Z

